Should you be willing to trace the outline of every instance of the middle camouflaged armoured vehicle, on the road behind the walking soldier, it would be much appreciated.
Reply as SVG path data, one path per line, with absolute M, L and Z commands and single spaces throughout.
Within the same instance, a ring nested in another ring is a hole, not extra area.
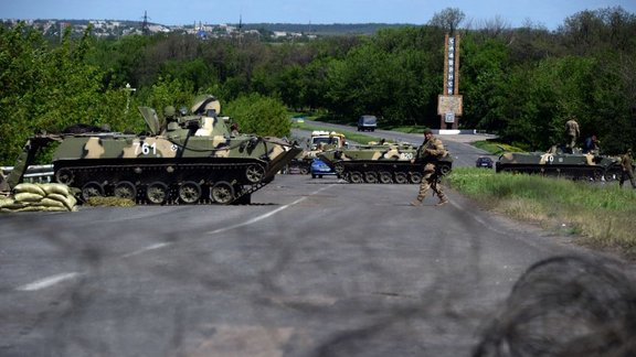
M 438 175 L 448 174 L 453 167 L 449 154 L 412 163 L 416 156 L 417 147 L 409 143 L 368 144 L 318 154 L 339 178 L 350 183 L 416 184 L 422 181 L 422 169 L 426 162 L 435 162 Z

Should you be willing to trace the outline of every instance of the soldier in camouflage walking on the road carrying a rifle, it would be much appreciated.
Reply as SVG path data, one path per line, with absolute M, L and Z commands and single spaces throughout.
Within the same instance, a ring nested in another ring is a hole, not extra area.
M 430 160 L 431 156 L 438 159 L 445 154 L 446 149 L 444 149 L 442 140 L 435 138 L 433 131 L 430 129 L 424 130 L 424 142 L 420 149 L 417 149 L 416 158 L 412 162 L 423 159 L 427 159 L 428 162 L 424 165 L 424 173 L 422 175 L 422 182 L 420 183 L 420 192 L 417 193 L 417 198 L 411 203 L 412 206 L 422 205 L 422 202 L 426 197 L 426 193 L 430 188 L 433 188 L 433 192 L 437 194 L 437 197 L 439 197 L 437 206 L 448 203 L 448 198 L 446 198 L 446 195 L 442 191 L 442 185 L 438 183 L 438 176 L 435 172 L 435 160 Z

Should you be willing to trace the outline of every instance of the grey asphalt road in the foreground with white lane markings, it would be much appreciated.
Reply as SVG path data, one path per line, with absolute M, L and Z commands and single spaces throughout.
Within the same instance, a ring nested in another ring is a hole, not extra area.
M 580 251 L 416 191 L 0 215 L 0 356 L 469 356 L 523 270 Z

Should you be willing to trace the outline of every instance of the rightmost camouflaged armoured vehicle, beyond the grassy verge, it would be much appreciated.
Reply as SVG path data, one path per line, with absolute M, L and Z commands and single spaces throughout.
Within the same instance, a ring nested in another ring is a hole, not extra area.
M 507 152 L 495 163 L 496 172 L 542 174 L 572 180 L 611 181 L 619 166 L 614 158 L 552 147 L 547 152 Z

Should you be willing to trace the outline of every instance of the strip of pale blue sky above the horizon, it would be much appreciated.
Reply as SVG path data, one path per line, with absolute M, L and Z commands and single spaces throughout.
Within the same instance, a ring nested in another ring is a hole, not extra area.
M 141 20 L 174 25 L 199 23 L 412 23 L 425 24 L 446 8 L 458 8 L 474 25 L 499 19 L 511 26 L 527 20 L 555 30 L 583 10 L 622 7 L 636 0 L 1 0 L 2 19 Z

